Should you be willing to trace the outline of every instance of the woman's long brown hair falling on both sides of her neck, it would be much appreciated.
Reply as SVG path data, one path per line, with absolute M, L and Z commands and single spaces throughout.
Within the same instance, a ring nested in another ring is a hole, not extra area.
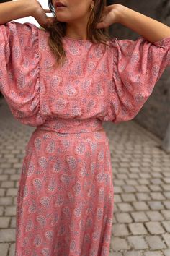
M 52 0 L 48 0 L 48 6 L 55 16 Z M 93 43 L 107 44 L 106 42 L 110 39 L 108 28 L 96 28 L 97 23 L 101 20 L 104 6 L 106 6 L 106 0 L 95 0 L 94 9 L 89 17 L 86 33 L 88 40 L 91 40 Z M 66 53 L 63 48 L 62 38 L 66 35 L 66 22 L 59 22 L 55 17 L 53 25 L 48 25 L 46 30 L 50 33 L 48 44 L 56 57 L 56 64 L 57 66 L 58 64 L 63 64 L 63 61 L 66 59 Z

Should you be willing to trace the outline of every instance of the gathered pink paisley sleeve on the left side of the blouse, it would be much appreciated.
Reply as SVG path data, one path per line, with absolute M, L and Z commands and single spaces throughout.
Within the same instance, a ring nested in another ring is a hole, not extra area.
M 44 122 L 40 114 L 38 30 L 29 22 L 0 25 L 0 91 L 14 117 L 30 126 Z

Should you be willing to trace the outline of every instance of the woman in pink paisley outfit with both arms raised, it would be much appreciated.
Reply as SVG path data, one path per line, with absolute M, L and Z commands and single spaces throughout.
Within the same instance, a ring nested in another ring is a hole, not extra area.
M 15 256 L 106 256 L 114 192 L 102 121 L 138 114 L 170 64 L 170 28 L 104 0 L 48 4 L 54 17 L 36 0 L 0 6 L 1 93 L 36 127 L 19 179 Z M 9 22 L 27 16 L 44 29 Z M 115 22 L 141 37 L 108 39 Z

